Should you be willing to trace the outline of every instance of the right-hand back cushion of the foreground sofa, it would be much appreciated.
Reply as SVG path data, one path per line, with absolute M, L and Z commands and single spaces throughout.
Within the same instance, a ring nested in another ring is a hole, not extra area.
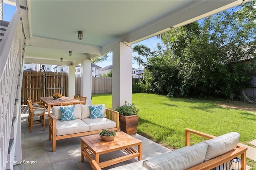
M 218 136 L 216 138 L 203 141 L 203 143 L 208 144 L 208 149 L 207 149 L 204 161 L 220 156 L 236 148 L 239 137 L 240 137 L 239 133 L 230 132 L 230 133 Z

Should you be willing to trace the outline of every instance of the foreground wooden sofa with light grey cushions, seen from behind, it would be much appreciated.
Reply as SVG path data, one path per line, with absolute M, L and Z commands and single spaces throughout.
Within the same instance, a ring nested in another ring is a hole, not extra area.
M 190 133 L 209 138 L 190 146 Z M 221 136 L 212 136 L 192 129 L 185 129 L 185 147 L 172 152 L 162 153 L 150 159 L 118 166 L 111 170 L 211 170 L 241 155 L 242 170 L 246 170 L 247 147 L 238 144 L 240 134 L 230 132 Z M 100 170 L 93 160 L 92 168 Z M 217 168 L 218 169 L 218 168 Z

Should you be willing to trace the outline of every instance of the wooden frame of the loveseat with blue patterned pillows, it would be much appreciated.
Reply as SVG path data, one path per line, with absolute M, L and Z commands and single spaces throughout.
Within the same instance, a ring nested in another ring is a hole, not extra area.
M 97 134 L 102 131 L 102 130 L 95 130 L 95 131 L 80 132 L 80 133 L 56 136 L 56 117 L 54 115 L 52 115 L 51 113 L 49 113 L 48 115 L 49 115 L 49 140 L 52 139 L 52 152 L 56 151 L 56 140 L 73 138 L 73 137 L 78 137 L 78 136 L 86 136 L 86 135 L 90 135 L 90 134 Z M 111 121 L 116 122 L 115 128 L 108 128 L 106 130 L 115 130 L 115 131 L 119 132 L 120 131 L 119 112 L 106 108 L 106 118 L 110 119 Z

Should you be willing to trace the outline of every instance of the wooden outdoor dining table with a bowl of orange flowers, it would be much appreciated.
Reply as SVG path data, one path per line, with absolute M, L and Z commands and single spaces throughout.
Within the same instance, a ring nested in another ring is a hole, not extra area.
M 62 96 L 60 100 L 54 100 L 53 97 L 40 97 L 39 98 L 44 105 L 48 106 L 48 112 L 50 112 L 50 108 L 53 106 L 60 106 L 61 104 L 65 103 L 73 103 L 73 104 L 85 104 L 85 101 L 80 101 L 76 99 L 72 99 L 66 96 Z

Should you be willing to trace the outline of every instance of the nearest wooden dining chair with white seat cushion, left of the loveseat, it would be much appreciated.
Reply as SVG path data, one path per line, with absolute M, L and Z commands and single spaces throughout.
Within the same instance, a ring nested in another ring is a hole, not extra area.
M 32 132 L 33 126 L 36 125 L 42 125 L 44 127 L 45 130 L 45 106 L 40 105 L 40 106 L 32 106 L 32 103 L 28 100 L 28 107 L 29 107 L 29 129 L 30 132 Z M 37 124 L 33 124 L 34 122 L 34 117 L 38 117 L 39 116 L 39 123 Z

